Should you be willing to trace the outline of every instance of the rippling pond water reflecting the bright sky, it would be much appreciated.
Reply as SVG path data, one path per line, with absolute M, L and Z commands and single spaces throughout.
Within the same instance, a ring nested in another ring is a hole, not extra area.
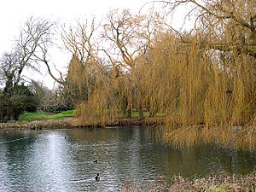
M 158 133 L 145 127 L 0 131 L 0 191 L 116 191 L 127 180 L 146 186 L 158 176 L 247 174 L 256 166 L 255 153 L 213 145 L 177 150 L 160 143 Z

